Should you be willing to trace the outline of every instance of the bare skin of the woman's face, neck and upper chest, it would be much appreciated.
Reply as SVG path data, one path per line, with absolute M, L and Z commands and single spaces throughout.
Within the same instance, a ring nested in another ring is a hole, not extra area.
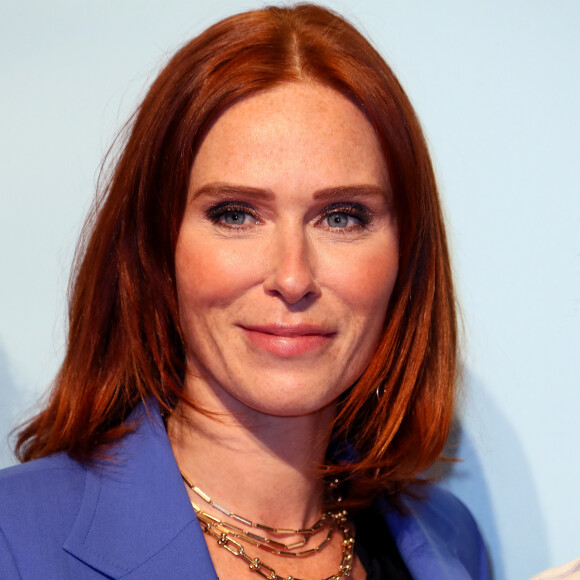
M 181 410 L 190 421 L 170 419 L 169 435 L 183 471 L 254 521 L 304 527 L 320 513 L 312 467 L 337 397 L 376 349 L 397 276 L 389 200 L 367 119 L 316 84 L 237 103 L 196 156 L 175 254 L 185 389 L 218 415 Z M 208 548 L 220 577 L 246 577 Z M 340 553 L 337 537 L 316 559 L 278 565 L 327 576 Z

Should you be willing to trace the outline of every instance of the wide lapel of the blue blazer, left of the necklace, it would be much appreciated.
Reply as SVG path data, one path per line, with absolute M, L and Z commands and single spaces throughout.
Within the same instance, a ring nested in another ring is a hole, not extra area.
M 112 578 L 216 580 L 157 405 L 130 421 L 114 458 L 87 468 L 64 549 Z

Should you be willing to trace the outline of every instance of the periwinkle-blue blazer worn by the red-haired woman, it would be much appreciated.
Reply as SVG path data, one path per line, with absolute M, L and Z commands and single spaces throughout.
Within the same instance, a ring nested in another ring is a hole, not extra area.
M 139 407 L 114 461 L 61 453 L 0 472 L 2 580 L 216 580 L 156 408 Z M 415 580 L 487 580 L 471 514 L 436 487 L 405 516 L 384 506 Z

